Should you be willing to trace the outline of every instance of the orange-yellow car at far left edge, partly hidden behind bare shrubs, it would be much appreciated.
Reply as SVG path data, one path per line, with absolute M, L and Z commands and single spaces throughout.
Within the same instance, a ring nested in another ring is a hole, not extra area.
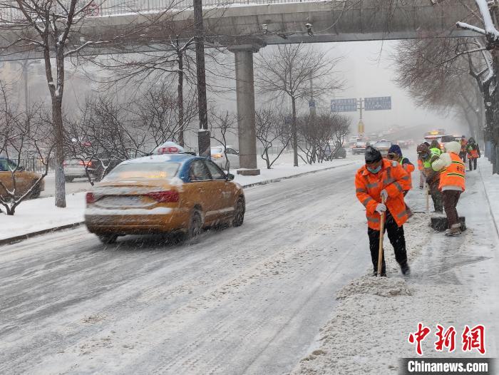
M 38 178 L 41 177 L 38 173 L 28 172 L 22 167 L 18 168 L 13 160 L 0 155 L 0 181 L 8 190 L 14 189 L 11 170 L 16 170 L 16 172 L 14 172 L 14 177 L 16 178 L 16 197 L 21 197 L 26 194 L 26 192 L 36 183 Z M 41 180 L 29 197 L 37 198 L 43 190 L 45 190 L 45 183 Z M 0 196 L 7 197 L 7 192 L 1 185 Z

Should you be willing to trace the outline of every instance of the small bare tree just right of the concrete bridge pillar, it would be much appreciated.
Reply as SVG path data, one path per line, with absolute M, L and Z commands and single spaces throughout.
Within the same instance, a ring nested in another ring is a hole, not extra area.
M 257 140 L 262 143 L 262 159 L 267 164 L 267 169 L 279 159 L 279 156 L 286 150 L 292 135 L 284 121 L 284 115 L 270 108 L 262 108 L 256 113 Z M 277 147 L 277 153 L 271 157 L 269 153 L 272 148 Z

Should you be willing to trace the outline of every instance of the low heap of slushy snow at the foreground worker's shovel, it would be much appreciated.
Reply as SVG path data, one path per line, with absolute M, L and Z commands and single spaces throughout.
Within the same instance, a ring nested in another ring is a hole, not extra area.
M 405 280 L 400 277 L 372 277 L 364 276 L 352 280 L 338 292 L 337 299 L 345 299 L 356 294 L 373 294 L 381 297 L 410 296 Z

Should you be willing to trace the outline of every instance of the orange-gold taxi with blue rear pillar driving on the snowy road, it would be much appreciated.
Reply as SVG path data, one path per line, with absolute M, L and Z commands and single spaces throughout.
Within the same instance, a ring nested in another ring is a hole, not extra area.
M 121 235 L 184 232 L 245 217 L 245 194 L 207 158 L 186 154 L 126 160 L 86 194 L 85 224 L 103 243 Z

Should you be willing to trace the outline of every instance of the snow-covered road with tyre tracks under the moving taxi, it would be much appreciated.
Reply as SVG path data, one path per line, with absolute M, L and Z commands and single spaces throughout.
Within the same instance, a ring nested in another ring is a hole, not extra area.
M 368 267 L 357 165 L 246 190 L 194 246 L 85 229 L 0 250 L 0 373 L 282 374 Z

